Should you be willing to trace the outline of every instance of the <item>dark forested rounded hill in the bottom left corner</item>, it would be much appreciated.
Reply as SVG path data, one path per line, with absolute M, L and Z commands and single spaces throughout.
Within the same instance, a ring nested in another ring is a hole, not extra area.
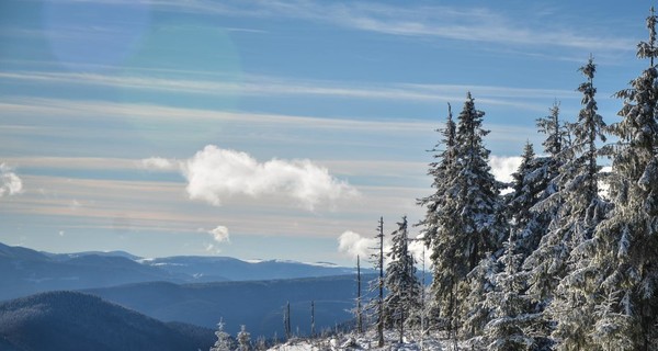
M 208 350 L 214 338 L 211 329 L 164 324 L 81 293 L 0 304 L 1 350 Z

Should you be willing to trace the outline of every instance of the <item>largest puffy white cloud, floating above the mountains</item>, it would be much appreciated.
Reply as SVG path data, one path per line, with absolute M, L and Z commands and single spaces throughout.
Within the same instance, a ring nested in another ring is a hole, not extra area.
M 213 205 L 235 195 L 280 195 L 313 211 L 321 203 L 358 194 L 310 160 L 272 159 L 259 162 L 246 152 L 206 146 L 182 165 L 190 199 Z

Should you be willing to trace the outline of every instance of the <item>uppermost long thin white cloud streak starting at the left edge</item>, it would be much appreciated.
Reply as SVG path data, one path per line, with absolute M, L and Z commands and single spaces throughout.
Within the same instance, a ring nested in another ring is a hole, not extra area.
M 509 88 L 496 86 L 473 84 L 418 84 L 389 83 L 373 84 L 368 82 L 344 83 L 327 80 L 298 80 L 269 76 L 247 76 L 240 82 L 223 80 L 181 80 L 163 78 L 145 78 L 129 76 L 110 76 L 100 73 L 76 72 L 0 72 L 0 78 L 11 80 L 34 81 L 39 83 L 67 83 L 105 86 L 137 90 L 166 91 L 175 93 L 194 93 L 207 95 L 320 95 L 328 98 L 358 100 L 413 101 L 435 103 L 439 101 L 455 101 L 463 99 L 463 92 L 470 91 L 478 97 L 479 102 L 510 105 L 520 109 L 545 111 L 545 105 L 538 102 L 525 101 L 533 99 L 577 99 L 571 90 Z M 461 92 L 461 93 L 455 93 Z

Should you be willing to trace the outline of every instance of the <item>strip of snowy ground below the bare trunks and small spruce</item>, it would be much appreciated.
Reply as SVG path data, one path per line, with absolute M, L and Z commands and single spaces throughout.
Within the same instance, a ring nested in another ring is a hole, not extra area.
M 385 346 L 377 348 L 377 337 L 375 331 L 368 331 L 363 335 L 349 333 L 343 336 L 333 336 L 326 339 L 293 339 L 286 343 L 277 344 L 269 351 L 339 351 L 339 350 L 390 350 L 390 351 L 447 351 L 452 350 L 451 342 L 436 337 L 428 337 L 424 340 L 420 338 L 405 338 L 405 342 L 398 343 L 398 335 L 386 332 L 384 336 Z M 421 344 L 422 343 L 422 344 Z M 465 350 L 464 346 L 460 350 Z

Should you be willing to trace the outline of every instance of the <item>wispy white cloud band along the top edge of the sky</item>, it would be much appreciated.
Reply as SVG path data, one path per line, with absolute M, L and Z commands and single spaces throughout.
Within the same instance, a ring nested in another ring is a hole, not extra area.
M 154 5 L 175 11 L 222 13 L 235 16 L 294 18 L 324 21 L 336 26 L 397 36 L 421 36 L 499 45 L 560 46 L 588 50 L 619 50 L 635 43 L 600 27 L 572 27 L 560 16 L 545 21 L 541 11 L 514 19 L 492 8 L 451 5 L 390 5 L 379 2 L 332 1 L 172 1 Z M 543 25 L 536 25 L 543 23 Z M 534 25 L 533 25 L 534 24 Z

